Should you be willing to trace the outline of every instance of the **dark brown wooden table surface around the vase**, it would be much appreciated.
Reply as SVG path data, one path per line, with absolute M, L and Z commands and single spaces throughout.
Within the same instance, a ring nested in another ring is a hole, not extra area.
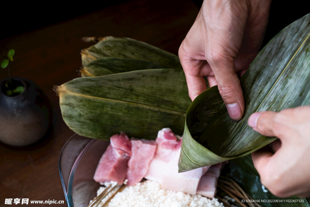
M 50 206 L 67 206 L 58 160 L 74 132 L 64 124 L 53 86 L 78 77 L 79 48 L 93 44 L 82 43 L 84 36 L 129 37 L 177 54 L 199 10 L 190 0 L 173 2 L 133 0 L 0 41 L 3 56 L 15 49 L 11 75 L 38 83 L 54 111 L 52 132 L 36 144 L 12 147 L 0 143 L 0 206 L 7 206 L 6 198 L 64 200 L 64 204 Z M 7 76 L 7 70 L 1 69 L 0 80 Z M 29 202 L 32 205 L 46 206 Z

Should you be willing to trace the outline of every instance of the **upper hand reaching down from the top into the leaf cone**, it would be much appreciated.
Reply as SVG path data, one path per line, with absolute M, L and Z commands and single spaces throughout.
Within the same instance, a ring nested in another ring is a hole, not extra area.
M 210 87 L 219 92 L 233 120 L 244 113 L 236 71 L 242 75 L 257 55 L 268 22 L 271 0 L 205 0 L 179 48 L 192 101 Z

